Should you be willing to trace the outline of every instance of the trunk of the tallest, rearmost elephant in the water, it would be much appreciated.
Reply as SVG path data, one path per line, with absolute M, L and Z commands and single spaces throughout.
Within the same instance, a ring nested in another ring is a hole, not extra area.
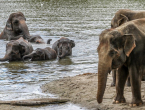
M 25 20 L 21 20 L 20 24 L 21 24 L 21 29 L 23 31 L 24 38 L 30 39 L 30 33 L 29 33 L 28 26 L 26 25 Z

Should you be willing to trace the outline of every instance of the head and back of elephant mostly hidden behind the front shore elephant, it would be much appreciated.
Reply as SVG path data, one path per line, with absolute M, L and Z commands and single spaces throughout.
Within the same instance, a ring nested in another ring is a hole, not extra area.
M 144 17 L 145 17 L 145 11 L 133 11 L 129 9 L 120 9 L 115 13 L 115 16 L 111 20 L 111 28 L 116 28 L 128 21 L 140 19 Z

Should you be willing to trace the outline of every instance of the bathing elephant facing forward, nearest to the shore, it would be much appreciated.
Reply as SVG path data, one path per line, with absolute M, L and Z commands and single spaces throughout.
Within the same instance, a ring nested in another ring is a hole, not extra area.
M 52 49 L 56 51 L 59 59 L 72 55 L 73 47 L 75 47 L 74 41 L 65 37 L 61 37 L 52 45 Z

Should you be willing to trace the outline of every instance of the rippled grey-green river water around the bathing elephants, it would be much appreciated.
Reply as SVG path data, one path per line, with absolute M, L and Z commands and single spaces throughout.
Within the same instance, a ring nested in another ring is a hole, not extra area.
M 83 73 L 97 73 L 99 34 L 110 28 L 118 9 L 144 10 L 142 0 L 0 0 L 0 32 L 9 15 L 21 11 L 31 35 L 40 35 L 51 44 L 32 44 L 33 48 L 51 47 L 60 37 L 75 41 L 72 56 L 62 60 L 0 62 L 0 99 L 16 100 L 55 97 L 41 92 L 44 83 Z M 0 40 L 0 57 L 8 41 Z M 95 97 L 95 96 L 94 96 Z M 37 110 L 85 110 L 71 103 L 37 107 Z

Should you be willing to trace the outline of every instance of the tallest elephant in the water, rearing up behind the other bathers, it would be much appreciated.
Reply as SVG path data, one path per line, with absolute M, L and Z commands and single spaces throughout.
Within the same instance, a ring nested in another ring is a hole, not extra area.
M 26 25 L 26 18 L 22 12 L 10 14 L 0 39 L 17 40 L 20 37 L 29 39 L 30 34 Z

